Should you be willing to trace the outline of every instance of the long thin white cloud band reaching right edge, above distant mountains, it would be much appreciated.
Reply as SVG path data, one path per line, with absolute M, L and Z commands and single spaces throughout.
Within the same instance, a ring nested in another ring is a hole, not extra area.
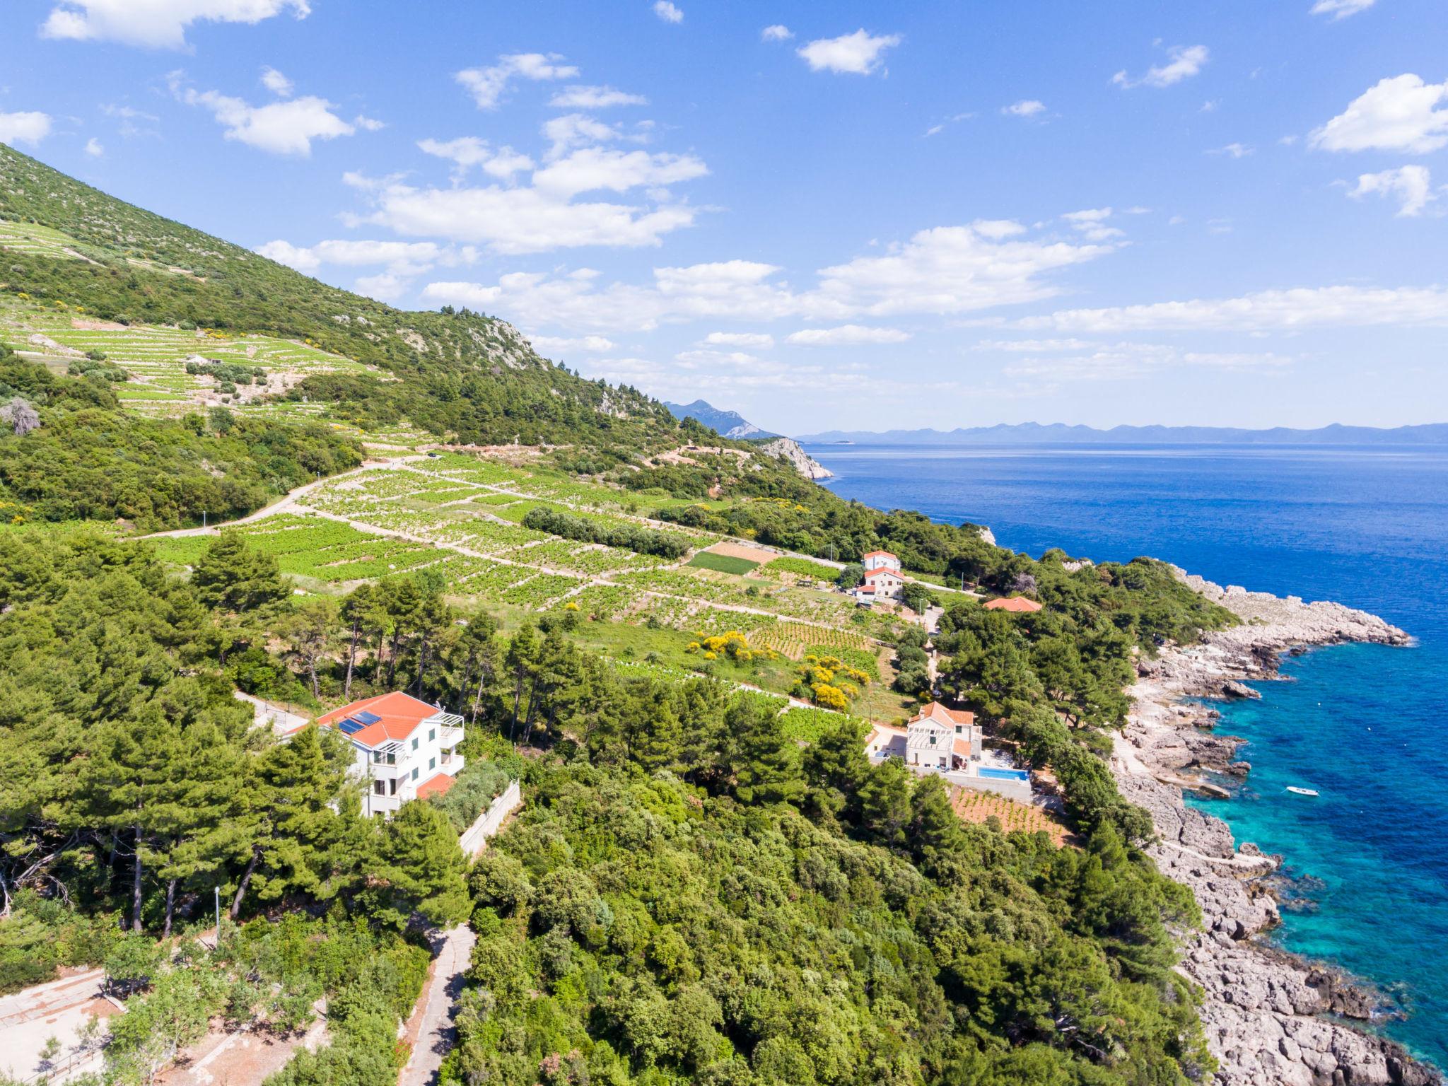
M 1160 301 L 1061 310 L 1016 321 L 1022 329 L 1115 333 L 1141 330 L 1286 332 L 1306 327 L 1448 326 L 1448 288 L 1297 287 L 1239 298 Z

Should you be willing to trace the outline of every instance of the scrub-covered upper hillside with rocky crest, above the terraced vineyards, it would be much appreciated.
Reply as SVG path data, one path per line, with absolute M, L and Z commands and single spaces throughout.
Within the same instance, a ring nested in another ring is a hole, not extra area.
M 405 313 L 329 287 L 0 145 L 4 220 L 14 226 L 0 233 L 0 292 L 122 324 L 269 333 L 382 371 L 316 374 L 288 392 L 332 404 L 345 418 L 405 418 L 465 443 L 634 450 L 675 440 L 662 404 L 555 366 L 502 320 L 468 310 Z

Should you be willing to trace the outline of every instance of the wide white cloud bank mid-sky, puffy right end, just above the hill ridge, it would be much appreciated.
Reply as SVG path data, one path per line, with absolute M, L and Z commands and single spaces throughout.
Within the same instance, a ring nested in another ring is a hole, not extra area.
M 488 222 L 494 222 L 495 217 Z M 1018 223 L 983 220 L 970 226 L 921 230 L 885 255 L 859 256 L 822 268 L 818 285 L 795 291 L 778 281 L 779 268 L 756 261 L 723 261 L 686 268 L 654 268 L 646 285 L 599 285 L 598 274 L 513 272 L 495 285 L 434 282 L 424 297 L 475 308 L 505 308 L 529 324 L 591 330 L 649 330 L 663 321 L 699 319 L 847 320 L 905 313 L 956 314 L 1053 297 L 1045 277 L 1114 251 L 1022 239 Z

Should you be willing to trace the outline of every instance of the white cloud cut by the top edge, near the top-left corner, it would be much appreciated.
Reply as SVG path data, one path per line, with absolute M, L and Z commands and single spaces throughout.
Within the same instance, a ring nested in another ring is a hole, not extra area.
M 41 36 L 184 49 L 191 23 L 255 25 L 288 10 L 297 19 L 311 13 L 307 0 L 64 0 L 41 25 Z

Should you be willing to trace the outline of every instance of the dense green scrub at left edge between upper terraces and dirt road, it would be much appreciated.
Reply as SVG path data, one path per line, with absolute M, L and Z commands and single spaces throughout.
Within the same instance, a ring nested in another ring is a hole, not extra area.
M 0 345 L 0 405 L 33 408 L 33 426 L 0 420 L 6 520 L 116 520 L 142 529 L 240 517 L 319 475 L 362 462 L 358 443 L 316 423 L 240 418 L 224 407 L 181 420 L 122 408 L 110 382 L 56 376 Z M 19 508 L 14 508 L 19 507 Z

